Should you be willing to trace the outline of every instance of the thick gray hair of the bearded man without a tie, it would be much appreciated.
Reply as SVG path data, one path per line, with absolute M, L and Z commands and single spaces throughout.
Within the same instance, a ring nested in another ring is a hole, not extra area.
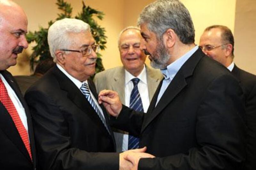
M 195 42 L 195 29 L 188 9 L 179 0 L 158 0 L 140 13 L 138 25 L 148 24 L 148 29 L 162 40 L 167 29 L 173 29 L 183 44 Z

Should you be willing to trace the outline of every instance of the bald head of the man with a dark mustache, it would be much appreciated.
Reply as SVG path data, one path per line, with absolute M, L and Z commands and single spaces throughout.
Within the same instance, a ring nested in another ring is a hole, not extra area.
M 12 1 L 0 0 L 0 70 L 15 65 L 17 55 L 28 47 L 27 27 L 23 9 Z

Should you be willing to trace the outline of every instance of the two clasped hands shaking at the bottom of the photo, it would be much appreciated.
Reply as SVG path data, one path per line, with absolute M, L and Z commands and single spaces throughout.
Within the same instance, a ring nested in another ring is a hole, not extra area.
M 119 170 L 137 170 L 140 158 L 155 158 L 155 156 L 145 153 L 147 147 L 132 149 L 119 154 Z

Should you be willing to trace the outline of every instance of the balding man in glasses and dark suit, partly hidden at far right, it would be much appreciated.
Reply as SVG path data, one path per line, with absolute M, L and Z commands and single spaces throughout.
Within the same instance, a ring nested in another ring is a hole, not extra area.
M 241 70 L 234 63 L 234 36 L 226 26 L 213 25 L 200 38 L 203 52 L 228 68 L 239 80 L 244 92 L 247 125 L 247 148 L 244 169 L 256 169 L 256 76 Z

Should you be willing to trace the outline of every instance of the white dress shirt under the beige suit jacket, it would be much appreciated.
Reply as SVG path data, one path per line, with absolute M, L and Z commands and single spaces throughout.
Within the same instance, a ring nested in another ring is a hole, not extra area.
M 125 70 L 125 87 L 124 87 L 124 92 L 125 92 L 125 106 L 130 107 L 130 96 L 131 92 L 133 89 L 133 83 L 132 79 L 136 78 L 134 77 L 131 73 Z M 144 113 L 147 112 L 148 107 L 149 107 L 149 94 L 148 94 L 148 81 L 147 81 L 147 73 L 146 73 L 146 67 L 144 65 L 143 70 L 137 77 L 140 79 L 138 83 L 138 90 L 140 93 L 140 98 L 142 101 L 142 106 Z M 122 151 L 127 151 L 128 150 L 128 138 L 129 135 L 124 134 L 124 139 L 123 139 L 123 149 Z

